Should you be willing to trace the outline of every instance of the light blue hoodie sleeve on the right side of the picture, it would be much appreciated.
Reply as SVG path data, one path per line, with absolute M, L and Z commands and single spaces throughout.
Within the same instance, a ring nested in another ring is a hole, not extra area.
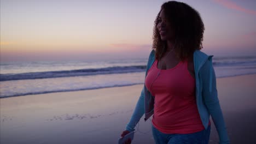
M 203 65 L 202 71 L 202 97 L 218 131 L 219 143 L 230 143 L 222 109 L 219 104 L 216 87 L 216 75 L 212 66 L 211 57 L 209 57 L 206 63 Z

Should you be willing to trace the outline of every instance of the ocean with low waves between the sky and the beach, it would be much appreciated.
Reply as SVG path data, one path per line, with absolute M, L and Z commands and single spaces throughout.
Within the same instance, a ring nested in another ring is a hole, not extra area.
M 0 98 L 144 83 L 144 59 L 1 62 Z M 256 56 L 213 57 L 216 77 L 256 74 Z

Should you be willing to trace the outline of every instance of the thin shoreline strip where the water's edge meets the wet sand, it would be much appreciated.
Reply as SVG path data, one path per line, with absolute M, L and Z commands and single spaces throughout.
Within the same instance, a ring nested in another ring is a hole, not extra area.
M 237 76 L 244 76 L 244 75 L 256 75 L 256 74 L 241 74 L 241 75 L 234 75 L 234 76 L 226 76 L 226 77 L 218 77 L 217 79 L 225 79 L 229 77 L 237 77 Z M 135 85 L 143 85 L 144 83 L 135 83 L 135 84 L 128 84 L 128 85 L 122 85 L 122 86 L 114 86 L 114 87 L 127 87 L 127 86 L 135 86 Z M 62 93 L 62 92 L 77 92 L 77 91 L 89 91 L 89 90 L 96 90 L 96 89 L 104 89 L 104 88 L 114 88 L 112 86 L 109 87 L 98 87 L 98 88 L 83 88 L 83 89 L 74 89 L 69 91 L 54 91 L 54 92 L 42 92 L 42 93 L 35 93 L 35 94 L 24 94 L 24 95 L 14 95 L 14 96 L 7 96 L 7 97 L 0 97 L 0 99 L 6 99 L 6 98 L 13 98 L 13 97 L 22 97 L 27 95 L 40 95 L 40 94 L 48 94 L 48 93 Z

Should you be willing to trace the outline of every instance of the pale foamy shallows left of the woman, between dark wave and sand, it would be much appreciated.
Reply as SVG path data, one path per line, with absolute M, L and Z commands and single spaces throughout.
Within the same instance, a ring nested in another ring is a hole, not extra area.
M 144 72 L 0 82 L 0 98 L 142 84 Z

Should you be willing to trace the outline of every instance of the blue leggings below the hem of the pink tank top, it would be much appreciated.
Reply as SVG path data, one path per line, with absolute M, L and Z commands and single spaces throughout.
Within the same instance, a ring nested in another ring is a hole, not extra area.
M 152 133 L 156 144 L 207 144 L 209 142 L 211 125 L 207 129 L 191 134 L 164 134 L 152 125 Z

